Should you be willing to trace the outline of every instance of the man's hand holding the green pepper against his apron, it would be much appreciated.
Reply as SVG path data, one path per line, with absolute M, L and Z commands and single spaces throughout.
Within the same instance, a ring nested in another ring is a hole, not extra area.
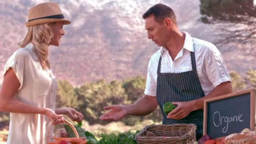
M 184 117 L 187 117 L 190 112 L 194 111 L 194 101 L 182 101 L 182 102 L 172 102 L 172 104 L 177 107 L 173 109 L 168 115 L 167 118 L 180 120 Z

